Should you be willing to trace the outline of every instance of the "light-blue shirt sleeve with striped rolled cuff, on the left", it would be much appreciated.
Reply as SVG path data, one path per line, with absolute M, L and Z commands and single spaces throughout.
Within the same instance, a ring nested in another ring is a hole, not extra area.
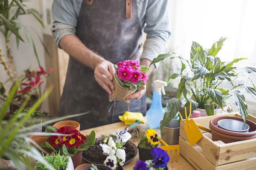
M 77 4 L 76 4 L 77 5 Z M 72 0 L 53 0 L 52 2 L 52 36 L 58 48 L 60 39 L 67 34 L 76 33 L 77 13 Z

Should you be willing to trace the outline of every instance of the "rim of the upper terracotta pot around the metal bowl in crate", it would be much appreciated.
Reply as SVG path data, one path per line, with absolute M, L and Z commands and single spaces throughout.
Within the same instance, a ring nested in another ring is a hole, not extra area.
M 213 119 L 210 120 L 209 122 L 209 128 L 212 128 L 220 133 L 223 133 L 223 134 L 227 134 L 227 135 L 230 135 L 230 136 L 237 136 L 237 137 L 250 137 L 250 136 L 255 136 L 256 135 L 256 130 L 252 131 L 252 132 L 247 132 L 247 133 L 242 133 L 242 132 L 232 132 L 232 131 L 228 131 L 228 130 L 225 130 L 225 129 L 220 129 L 218 127 L 215 126 L 215 124 L 213 124 L 213 120 L 217 120 L 217 122 L 219 120 L 222 120 L 222 119 L 234 119 L 234 120 L 243 120 L 243 118 L 240 118 L 240 117 L 235 117 L 235 116 L 219 116 L 219 117 L 215 117 Z M 248 122 L 247 122 L 248 121 Z M 246 123 L 248 124 L 254 124 L 256 126 L 256 123 L 250 121 L 250 120 L 246 120 Z M 248 125 L 249 125 L 248 124 Z M 249 125 L 250 126 L 250 125 Z

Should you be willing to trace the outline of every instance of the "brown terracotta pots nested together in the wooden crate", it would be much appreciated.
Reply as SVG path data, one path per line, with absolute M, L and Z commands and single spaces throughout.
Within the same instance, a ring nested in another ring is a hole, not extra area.
M 233 119 L 244 122 L 243 118 L 234 117 L 234 116 L 220 116 L 215 117 L 210 121 L 209 128 L 212 131 L 212 140 L 218 141 L 221 140 L 224 143 L 237 142 L 241 140 L 253 139 L 256 138 L 256 123 L 246 120 L 246 124 L 249 125 L 248 132 L 234 132 L 225 129 L 219 128 L 218 121 L 222 119 Z

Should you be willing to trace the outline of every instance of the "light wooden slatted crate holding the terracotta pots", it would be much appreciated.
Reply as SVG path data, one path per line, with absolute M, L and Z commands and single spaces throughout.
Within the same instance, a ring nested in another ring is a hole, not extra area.
M 202 126 L 209 128 L 209 122 L 214 117 L 236 116 L 236 113 L 213 115 L 193 118 Z M 256 122 L 256 118 L 248 115 L 249 120 Z M 244 140 L 225 144 L 222 141 L 212 141 L 212 134 L 203 130 L 203 137 L 192 147 L 184 129 L 185 122 L 180 122 L 180 154 L 196 169 L 256 169 L 256 139 Z

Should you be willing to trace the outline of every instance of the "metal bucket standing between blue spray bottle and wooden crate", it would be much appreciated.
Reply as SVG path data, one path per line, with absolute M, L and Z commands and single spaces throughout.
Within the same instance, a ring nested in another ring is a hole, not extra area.
M 159 121 L 162 126 L 163 119 Z M 169 145 L 179 144 L 180 123 L 177 119 L 172 119 L 167 125 L 160 129 L 161 138 Z

